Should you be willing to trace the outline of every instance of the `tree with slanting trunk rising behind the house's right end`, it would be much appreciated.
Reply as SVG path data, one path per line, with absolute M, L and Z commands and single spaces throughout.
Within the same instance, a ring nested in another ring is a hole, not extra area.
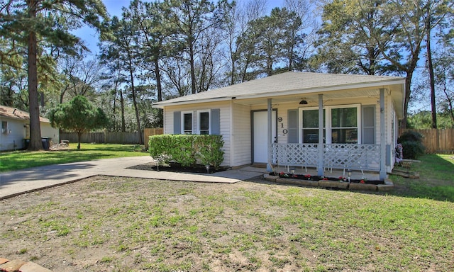
M 351 62 L 347 58 L 345 64 L 367 68 L 370 71 L 368 74 L 384 69 L 405 76 L 402 128 L 406 128 L 413 75 L 427 34 L 424 4 L 423 1 L 413 0 L 335 0 L 323 9 L 323 14 L 332 15 L 325 24 L 326 27 L 333 27 L 328 28 L 328 42 L 347 44 L 347 47 L 334 47 L 342 50 L 331 54 L 331 57 L 345 53 L 348 58 L 357 60 Z M 338 13 L 338 9 L 345 11 L 346 15 Z M 349 49 L 358 46 L 362 48 L 360 52 L 365 53 L 362 56 L 369 61 L 368 65 L 364 65 L 367 62 L 358 62 L 359 54 Z

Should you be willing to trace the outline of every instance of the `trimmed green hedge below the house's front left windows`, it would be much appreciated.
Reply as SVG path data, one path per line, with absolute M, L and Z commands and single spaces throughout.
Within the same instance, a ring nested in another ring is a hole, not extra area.
M 221 135 L 153 135 L 148 151 L 160 165 L 177 162 L 195 166 L 199 162 L 217 169 L 223 162 L 223 145 Z

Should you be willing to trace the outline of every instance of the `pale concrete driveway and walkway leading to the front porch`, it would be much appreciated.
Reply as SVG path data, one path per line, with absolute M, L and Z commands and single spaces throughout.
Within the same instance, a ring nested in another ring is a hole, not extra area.
M 128 169 L 128 167 L 148 162 L 153 162 L 153 159 L 148 156 L 98 159 L 89 162 L 55 164 L 0 173 L 0 200 L 59 184 L 72 183 L 96 175 L 171 181 L 236 183 L 266 173 L 266 169 L 255 167 L 221 171 L 214 174 L 187 174 Z

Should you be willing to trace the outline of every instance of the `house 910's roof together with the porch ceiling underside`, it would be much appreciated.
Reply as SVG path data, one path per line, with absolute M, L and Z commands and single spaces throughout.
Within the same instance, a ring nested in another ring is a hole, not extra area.
M 267 98 L 272 98 L 273 103 L 296 101 L 301 98 L 316 100 L 317 94 L 323 94 L 323 98 L 326 99 L 378 96 L 379 89 L 386 89 L 393 98 L 397 113 L 401 115 L 404 103 L 404 84 L 405 80 L 402 77 L 285 72 L 153 103 L 153 107 L 164 108 L 229 100 L 255 105 L 266 103 Z

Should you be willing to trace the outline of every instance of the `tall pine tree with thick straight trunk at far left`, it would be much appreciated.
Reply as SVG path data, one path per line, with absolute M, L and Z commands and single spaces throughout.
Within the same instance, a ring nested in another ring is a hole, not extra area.
M 74 53 L 75 45 L 81 45 L 81 42 L 70 29 L 79 27 L 81 21 L 99 28 L 100 17 L 105 18 L 106 8 L 99 0 L 4 0 L 0 12 L 0 36 L 11 45 L 1 52 L 1 61 L 12 64 L 15 56 L 27 56 L 31 138 L 28 149 L 42 149 L 38 84 L 43 81 L 39 81 L 38 71 L 46 62 L 38 62 L 38 56 L 43 56 L 45 46 L 50 50 L 58 47 Z

